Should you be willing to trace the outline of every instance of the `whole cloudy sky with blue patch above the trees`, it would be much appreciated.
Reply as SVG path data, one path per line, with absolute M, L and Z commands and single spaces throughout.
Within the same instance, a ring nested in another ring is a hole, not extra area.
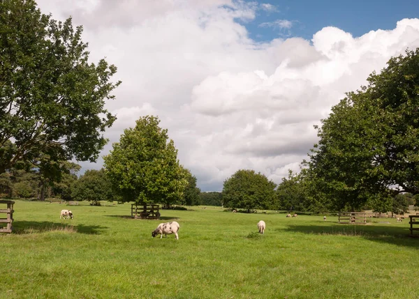
M 118 68 L 101 157 L 138 118 L 158 116 L 201 191 L 221 191 L 240 169 L 274 183 L 298 172 L 331 107 L 419 47 L 416 0 L 37 3 L 83 26 L 91 62 Z

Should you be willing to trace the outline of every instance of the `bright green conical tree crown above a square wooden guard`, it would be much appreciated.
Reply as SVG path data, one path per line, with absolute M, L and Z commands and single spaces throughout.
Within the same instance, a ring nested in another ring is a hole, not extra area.
M 123 201 L 170 205 L 182 199 L 186 174 L 168 130 L 159 123 L 156 116 L 138 119 L 103 157 L 106 174 Z

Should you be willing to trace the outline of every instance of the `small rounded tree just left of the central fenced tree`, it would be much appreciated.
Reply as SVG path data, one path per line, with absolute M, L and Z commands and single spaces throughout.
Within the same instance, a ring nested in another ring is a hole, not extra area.
M 73 184 L 71 196 L 76 201 L 88 200 L 92 203 L 98 201 L 112 201 L 112 184 L 105 170 L 91 169 L 84 172 Z

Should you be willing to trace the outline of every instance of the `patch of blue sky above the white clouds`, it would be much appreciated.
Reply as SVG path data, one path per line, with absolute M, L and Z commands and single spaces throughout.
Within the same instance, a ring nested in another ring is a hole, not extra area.
M 354 37 L 371 30 L 389 30 L 397 21 L 419 17 L 417 0 L 284 0 L 258 1 L 270 3 L 277 11 L 258 10 L 251 22 L 242 22 L 254 40 L 267 41 L 272 38 L 301 37 L 311 39 L 314 33 L 325 26 L 336 26 Z M 263 27 L 263 22 L 288 20 L 290 29 Z

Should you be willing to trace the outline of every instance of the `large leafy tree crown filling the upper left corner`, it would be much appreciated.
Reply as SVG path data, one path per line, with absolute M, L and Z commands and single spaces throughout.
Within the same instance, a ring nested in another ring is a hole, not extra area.
M 104 59 L 89 63 L 82 26 L 43 15 L 33 0 L 0 2 L 0 173 L 43 155 L 98 158 L 115 121 L 105 99 L 120 84 Z

